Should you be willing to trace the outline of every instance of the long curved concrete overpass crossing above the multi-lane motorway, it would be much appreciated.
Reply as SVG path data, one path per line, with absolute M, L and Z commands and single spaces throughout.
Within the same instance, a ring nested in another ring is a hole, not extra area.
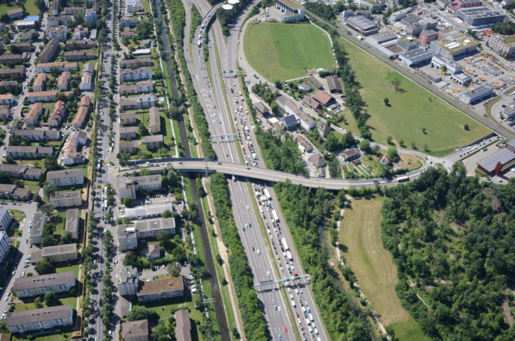
M 341 190 L 341 189 L 349 189 L 351 185 L 354 185 L 356 188 L 360 188 L 363 186 L 375 186 L 376 184 L 382 186 L 391 186 L 396 185 L 398 183 L 398 178 L 375 178 L 375 179 L 327 179 L 327 178 L 318 178 L 318 177 L 310 177 L 304 175 L 298 175 L 293 173 L 286 173 L 281 171 L 274 171 L 273 169 L 260 168 L 260 167 L 252 167 L 238 163 L 231 162 L 220 162 L 214 160 L 205 160 L 205 159 L 177 159 L 177 158 L 162 158 L 162 159 L 149 159 L 149 160 L 138 160 L 128 162 L 128 165 L 137 165 L 137 164 L 145 164 L 149 162 L 150 164 L 169 164 L 173 166 L 177 171 L 182 173 L 187 172 L 195 172 L 195 173 L 215 173 L 221 172 L 229 175 L 239 176 L 239 177 L 247 177 L 253 179 L 259 179 L 264 181 L 286 181 L 290 180 L 295 184 L 301 184 L 306 187 L 324 187 L 328 190 Z M 415 171 L 411 171 L 402 175 L 404 178 L 408 176 L 411 180 L 417 178 L 422 174 L 423 169 L 417 169 Z

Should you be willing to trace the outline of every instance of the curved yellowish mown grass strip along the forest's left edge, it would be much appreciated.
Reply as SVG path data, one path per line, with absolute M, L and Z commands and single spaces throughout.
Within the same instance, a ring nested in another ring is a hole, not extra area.
M 347 264 L 354 271 L 357 283 L 372 307 L 381 315 L 381 321 L 395 327 L 396 336 L 401 341 L 425 341 L 420 327 L 402 308 L 395 292 L 397 271 L 390 253 L 381 242 L 383 200 L 382 197 L 352 200 L 340 226 L 340 241 L 348 248 L 345 253 Z M 408 329 L 410 333 L 403 331 Z M 414 332 L 420 334 L 418 338 L 407 337 Z

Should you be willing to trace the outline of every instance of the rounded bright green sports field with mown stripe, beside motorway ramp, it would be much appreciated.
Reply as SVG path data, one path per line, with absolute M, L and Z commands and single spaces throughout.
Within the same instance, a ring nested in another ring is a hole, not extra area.
M 311 24 L 249 24 L 244 49 L 254 70 L 272 82 L 336 66 L 328 35 Z

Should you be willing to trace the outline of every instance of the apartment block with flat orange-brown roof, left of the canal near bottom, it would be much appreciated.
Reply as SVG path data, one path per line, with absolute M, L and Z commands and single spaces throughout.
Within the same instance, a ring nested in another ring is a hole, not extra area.
M 184 296 L 182 276 L 143 282 L 137 296 L 142 303 L 182 297 Z

